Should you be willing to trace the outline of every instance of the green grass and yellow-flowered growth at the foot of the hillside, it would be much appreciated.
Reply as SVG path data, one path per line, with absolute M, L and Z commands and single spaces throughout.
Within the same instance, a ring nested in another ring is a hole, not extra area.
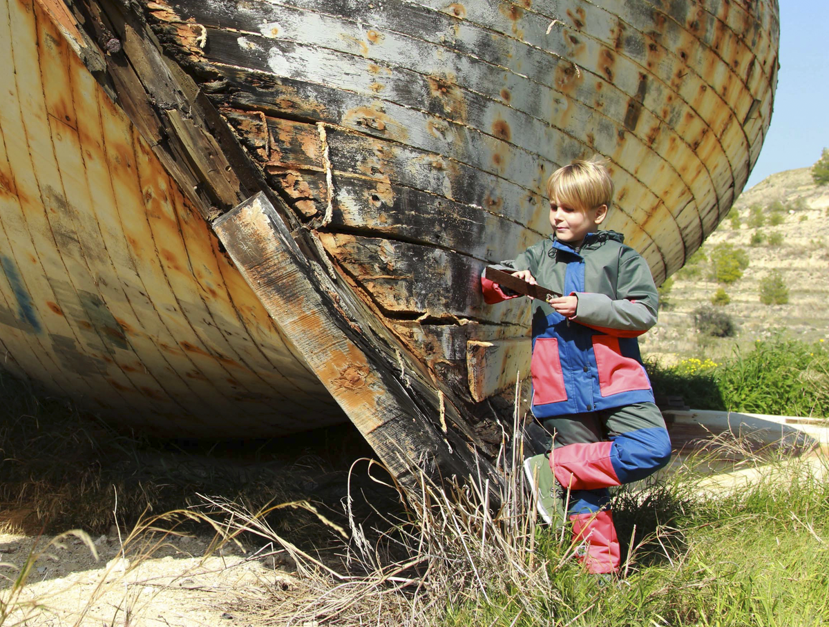
M 755 342 L 719 364 L 682 359 L 662 368 L 647 365 L 657 395 L 679 395 L 695 409 L 829 416 L 829 349 L 823 340 Z

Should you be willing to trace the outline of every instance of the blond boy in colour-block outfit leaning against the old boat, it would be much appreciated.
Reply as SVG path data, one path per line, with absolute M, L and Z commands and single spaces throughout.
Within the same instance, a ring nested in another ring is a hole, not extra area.
M 671 457 L 636 340 L 656 324 L 657 289 L 623 235 L 598 230 L 613 197 L 603 162 L 560 168 L 547 181 L 547 195 L 552 236 L 502 263 L 564 295 L 533 302 L 532 412 L 553 437 L 545 436 L 548 453 L 525 467 L 534 485 L 552 487 L 539 500 L 548 523 L 551 497 L 560 502 L 570 490 L 567 514 L 588 571 L 618 572 L 608 487 L 643 479 Z M 486 278 L 482 289 L 490 304 L 516 296 Z

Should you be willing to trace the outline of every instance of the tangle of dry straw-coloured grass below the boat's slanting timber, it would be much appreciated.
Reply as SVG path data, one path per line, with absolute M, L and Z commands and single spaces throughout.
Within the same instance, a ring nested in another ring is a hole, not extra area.
M 507 441 L 521 439 L 516 416 L 502 452 L 507 451 Z M 406 505 L 405 514 L 376 511 L 379 524 L 370 529 L 354 517 L 356 497 L 350 494 L 349 541 L 342 546 L 339 568 L 298 551 L 269 528 L 264 523 L 269 509 L 252 513 L 226 501 L 207 502 L 214 514 L 222 514 L 217 528 L 229 530 L 230 536 L 256 534 L 273 550 L 288 552 L 301 575 L 291 586 L 250 591 L 240 599 L 256 625 L 436 625 L 447 608 L 492 605 L 493 593 L 498 603 L 521 604 L 526 619 L 542 624 L 549 620 L 545 608 L 521 590 L 529 587 L 545 591 L 550 600 L 559 598 L 548 575 L 559 565 L 536 551 L 536 508 L 523 485 L 521 461 L 516 447 L 499 458 L 502 485 L 474 477 L 438 484 L 421 475 L 418 496 L 408 500 L 394 486 Z M 492 502 L 503 504 L 497 513 L 492 512 Z M 308 507 L 277 507 L 286 505 Z M 327 524 L 345 537 L 342 528 Z M 559 556 L 560 562 L 572 557 L 569 547 Z M 504 600 L 505 590 L 516 594 Z

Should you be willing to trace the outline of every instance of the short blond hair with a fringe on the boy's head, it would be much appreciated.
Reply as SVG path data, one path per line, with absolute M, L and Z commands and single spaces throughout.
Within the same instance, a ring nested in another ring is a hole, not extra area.
M 607 160 L 597 155 L 560 167 L 547 179 L 547 197 L 582 211 L 599 205 L 608 205 L 609 210 L 613 200 L 613 180 Z

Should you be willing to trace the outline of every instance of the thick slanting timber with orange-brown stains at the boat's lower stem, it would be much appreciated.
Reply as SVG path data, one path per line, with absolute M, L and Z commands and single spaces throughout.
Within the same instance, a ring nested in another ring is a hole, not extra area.
M 487 462 L 470 457 L 471 442 L 436 425 L 441 407 L 443 421 L 453 417 L 453 408 L 443 405 L 420 364 L 402 346 L 395 349 L 397 342 L 360 301 L 308 263 L 264 195 L 222 216 L 214 228 L 270 315 L 406 488 L 416 492 L 419 471 L 434 475 L 438 468 L 444 476 L 465 477 L 479 464 L 483 475 L 495 478 Z M 377 330 L 387 353 L 371 338 Z

